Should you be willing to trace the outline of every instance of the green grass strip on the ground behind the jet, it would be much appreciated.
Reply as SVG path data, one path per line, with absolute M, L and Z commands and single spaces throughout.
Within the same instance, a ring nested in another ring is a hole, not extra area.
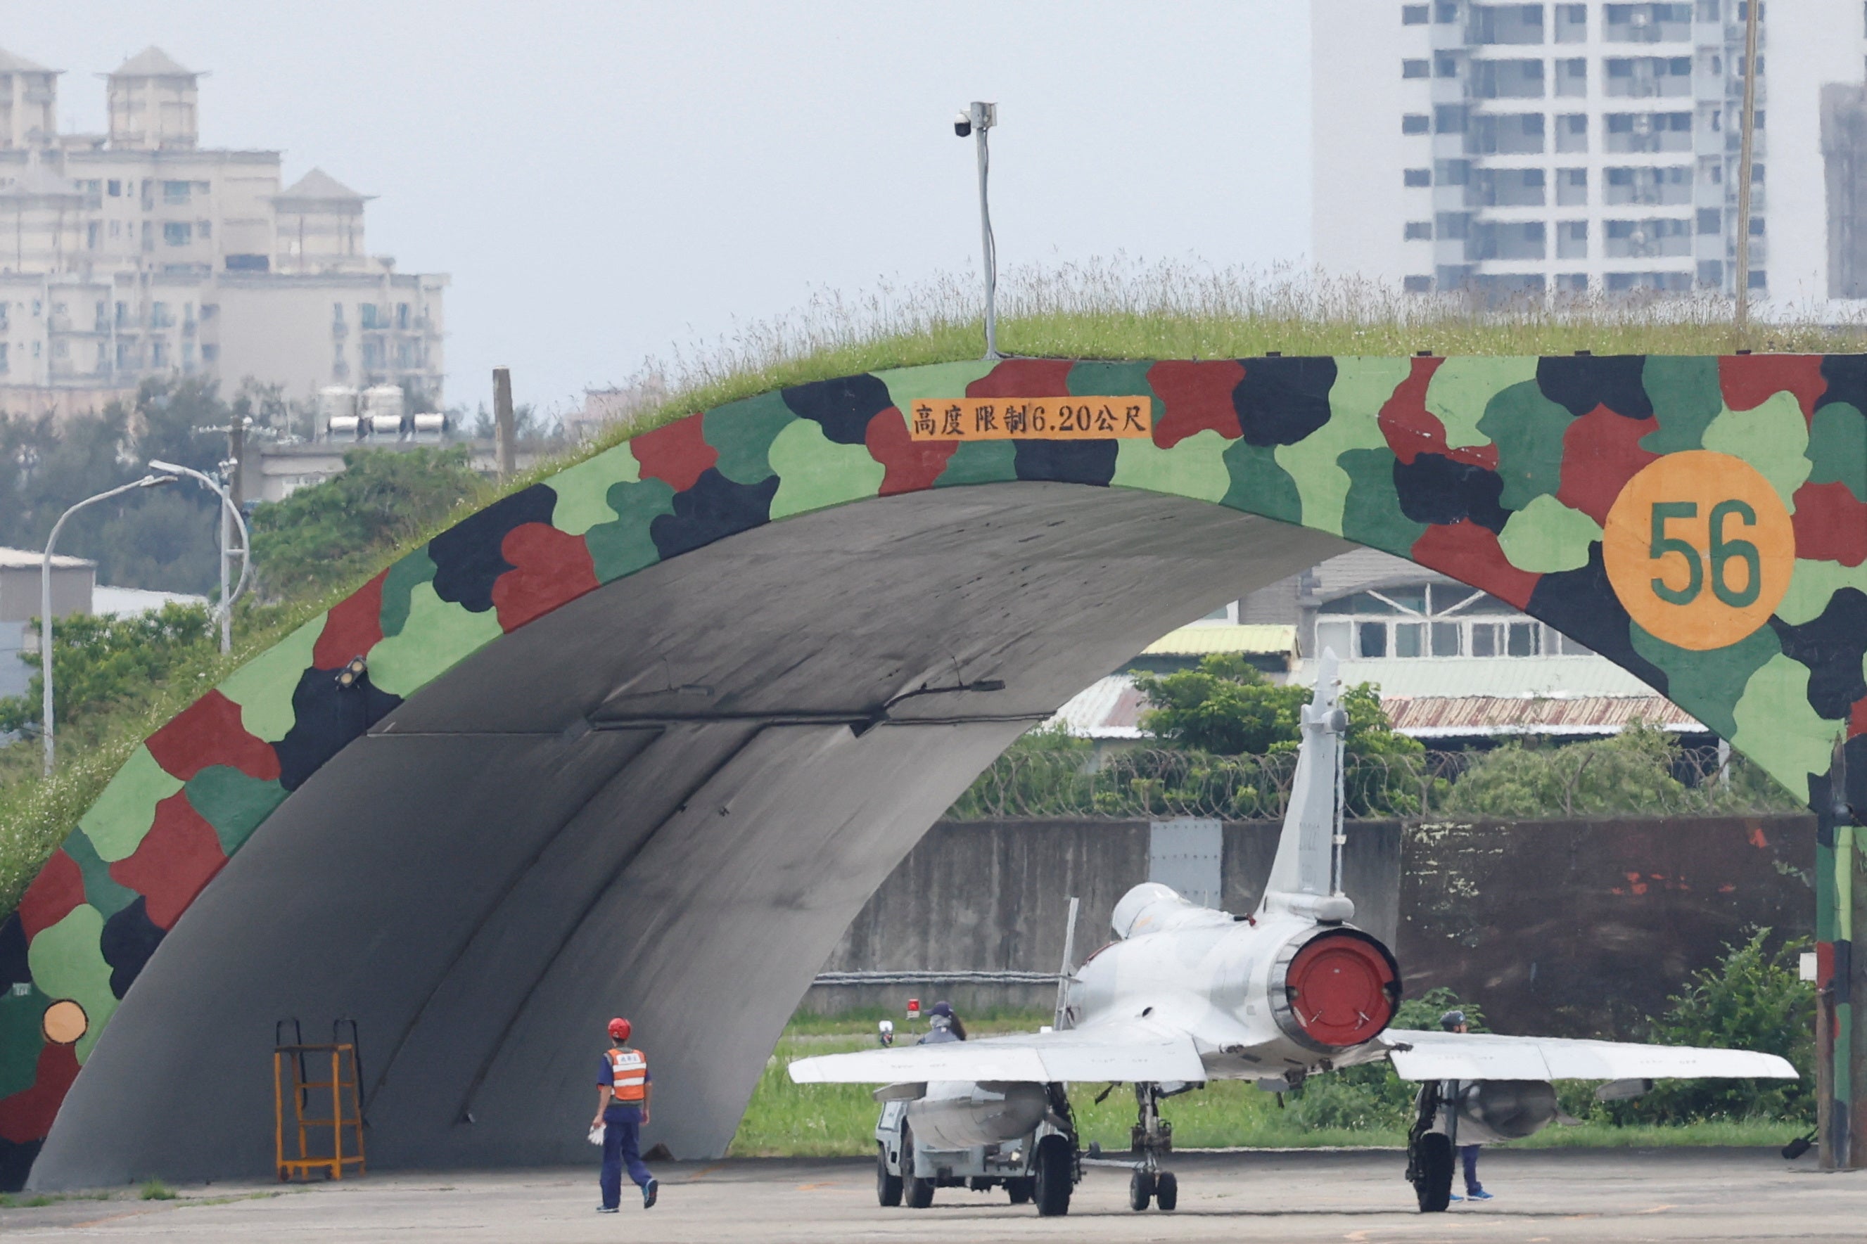
M 969 1020 L 973 1037 L 995 1031 L 1032 1031 L 1047 1016 L 995 1016 Z M 913 1041 L 907 1026 L 896 1020 L 902 1041 Z M 876 1044 L 874 1016 L 825 1020 L 799 1016 L 786 1028 L 779 1048 L 765 1063 L 752 1100 L 732 1140 L 732 1156 L 838 1156 L 874 1153 L 876 1115 L 879 1108 L 870 1097 L 870 1085 L 861 1084 L 792 1084 L 786 1065 L 812 1054 L 840 1054 L 868 1050 Z M 1070 1104 L 1075 1110 L 1083 1141 L 1100 1141 L 1103 1149 L 1128 1149 L 1128 1128 L 1135 1121 L 1135 1099 L 1124 1085 L 1116 1087 L 1098 1106 L 1094 1097 L 1107 1085 L 1072 1085 Z M 1161 1115 L 1172 1123 L 1174 1145 L 1182 1149 L 1316 1149 L 1331 1145 L 1391 1145 L 1404 1147 L 1400 1128 L 1309 1128 L 1290 1108 L 1281 1108 L 1277 1097 L 1253 1084 L 1221 1082 L 1204 1089 L 1172 1097 L 1161 1106 Z M 1779 1147 L 1802 1128 L 1777 1121 L 1708 1121 L 1682 1127 L 1611 1127 L 1583 1123 L 1581 1127 L 1546 1127 L 1525 1141 L 1523 1149 L 1600 1147 L 1634 1149 L 1662 1145 L 1770 1145 Z

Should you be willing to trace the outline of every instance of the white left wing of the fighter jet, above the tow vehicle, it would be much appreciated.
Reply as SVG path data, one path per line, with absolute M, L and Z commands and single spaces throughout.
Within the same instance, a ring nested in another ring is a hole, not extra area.
M 1206 1067 L 1187 1033 L 1148 1024 L 1096 1024 L 1053 1033 L 820 1054 L 793 1061 L 790 1072 L 795 1084 L 1206 1080 Z

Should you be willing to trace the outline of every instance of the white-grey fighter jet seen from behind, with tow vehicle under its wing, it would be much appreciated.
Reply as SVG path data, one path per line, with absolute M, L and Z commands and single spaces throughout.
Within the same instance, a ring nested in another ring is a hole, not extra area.
M 1064 1214 L 1083 1164 L 1068 1084 L 1131 1084 L 1130 1205 L 1172 1209 L 1163 1099 L 1212 1080 L 1288 1091 L 1305 1078 L 1389 1059 L 1421 1082 L 1408 1143 L 1419 1209 L 1447 1207 L 1458 1143 L 1520 1140 L 1559 1117 L 1553 1080 L 1604 1080 L 1635 1097 L 1656 1078 L 1794 1078 L 1749 1050 L 1389 1028 L 1400 1002 L 1391 949 L 1354 925 L 1342 893 L 1342 748 L 1335 653 L 1301 712 L 1298 767 L 1264 897 L 1249 916 L 1187 903 L 1156 882 L 1115 905 L 1116 940 L 1079 968 L 1066 936 L 1055 1026 L 1038 1033 L 797 1059 L 797 1084 L 879 1084 L 883 1203 L 926 1205 L 934 1186 L 1003 1182 L 1014 1201 Z M 1100 1099 L 1098 1099 L 1100 1100 Z M 892 1143 L 891 1143 L 892 1141 Z M 965 1175 L 956 1171 L 978 1171 Z

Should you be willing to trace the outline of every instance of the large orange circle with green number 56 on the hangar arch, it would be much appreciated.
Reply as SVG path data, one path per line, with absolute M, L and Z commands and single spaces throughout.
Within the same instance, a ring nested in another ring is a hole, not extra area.
M 1607 582 L 1647 634 L 1710 651 L 1776 612 L 1796 571 L 1796 528 L 1762 472 L 1688 449 L 1628 479 L 1602 533 Z

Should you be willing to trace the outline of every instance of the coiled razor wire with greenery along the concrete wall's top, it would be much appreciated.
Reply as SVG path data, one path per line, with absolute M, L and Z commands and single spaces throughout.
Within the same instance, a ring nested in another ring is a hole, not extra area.
M 1279 821 L 1296 753 L 1210 755 L 1137 748 L 1092 757 L 1019 748 L 993 761 L 948 821 Z M 1804 804 L 1742 757 L 1714 748 L 1641 755 L 1609 744 L 1350 755 L 1350 817 L 1568 819 L 1585 815 L 1759 815 Z

